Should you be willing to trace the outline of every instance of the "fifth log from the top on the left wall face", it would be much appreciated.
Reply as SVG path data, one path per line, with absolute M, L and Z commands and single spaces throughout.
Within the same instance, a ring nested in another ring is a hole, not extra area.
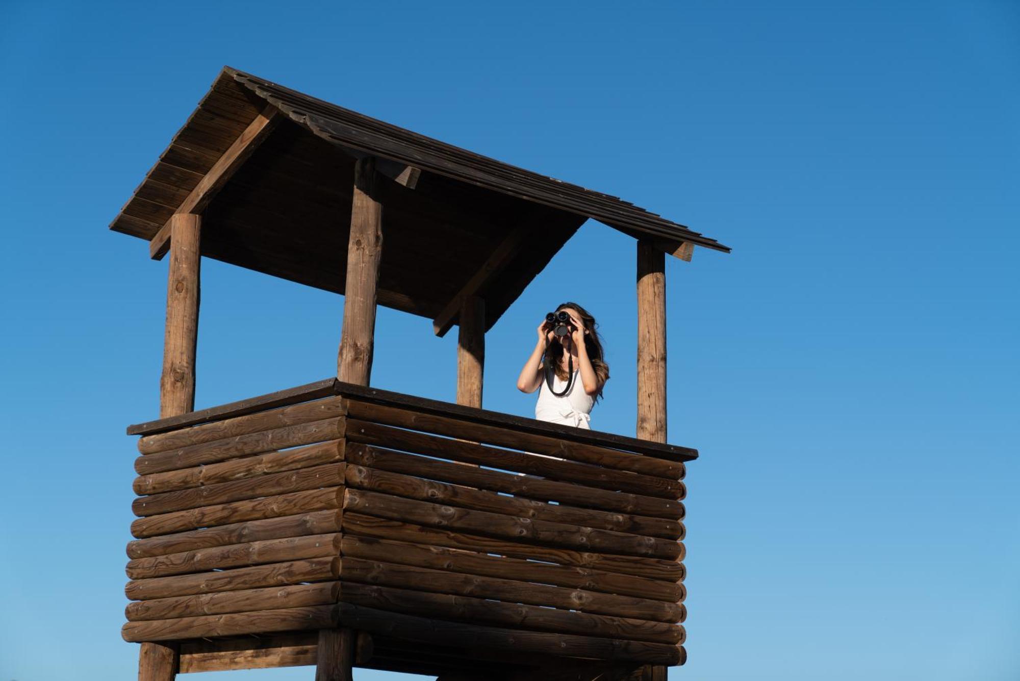
M 326 487 L 166 513 L 139 518 L 131 524 L 131 532 L 133 536 L 142 539 L 251 520 L 339 509 L 343 504 L 343 487 Z M 162 544 L 151 542 L 149 545 Z

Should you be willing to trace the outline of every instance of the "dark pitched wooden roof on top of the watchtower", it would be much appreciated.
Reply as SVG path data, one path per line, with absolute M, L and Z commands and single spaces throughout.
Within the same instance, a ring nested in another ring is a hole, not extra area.
M 616 197 L 230 67 L 110 228 L 158 242 L 170 215 L 191 205 L 189 195 L 202 189 L 203 179 L 209 182 L 217 161 L 221 166 L 267 107 L 285 115 L 210 193 L 202 255 L 343 294 L 354 163 L 371 155 L 376 169 L 396 180 L 382 189 L 378 302 L 434 319 L 441 334 L 456 322 L 465 295 L 486 300 L 486 327 L 491 327 L 588 218 L 653 239 L 667 251 L 681 244 L 729 251 Z M 154 244 L 154 257 L 163 250 Z

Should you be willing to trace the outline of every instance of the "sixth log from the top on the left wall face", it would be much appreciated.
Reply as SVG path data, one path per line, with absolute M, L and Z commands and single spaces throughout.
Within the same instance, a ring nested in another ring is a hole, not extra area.
M 306 492 L 298 492 L 304 494 Z M 336 490 L 328 490 L 327 495 L 336 504 Z M 148 539 L 136 539 L 128 544 L 128 556 L 133 561 L 166 557 L 167 561 L 176 559 L 170 555 L 182 555 L 197 552 L 202 548 L 239 544 L 247 541 L 264 541 L 283 537 L 298 537 L 309 534 L 328 534 L 339 532 L 341 512 L 339 509 L 312 511 L 280 518 L 251 520 L 218 527 L 203 527 L 199 530 L 166 534 Z M 131 564 L 129 564 L 131 565 Z

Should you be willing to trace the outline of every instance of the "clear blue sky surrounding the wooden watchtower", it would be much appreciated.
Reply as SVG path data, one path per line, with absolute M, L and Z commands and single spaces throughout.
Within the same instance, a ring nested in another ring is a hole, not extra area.
M 106 227 L 224 64 L 733 247 L 667 265 L 702 453 L 671 679 L 1020 678 L 1017 3 L 0 0 L 0 680 L 135 678 L 123 428 L 157 415 L 166 262 Z M 341 298 L 202 276 L 199 407 L 333 375 Z M 633 276 L 583 226 L 490 333 L 486 406 L 532 413 L 572 299 L 593 424 L 631 434 Z M 373 383 L 453 400 L 454 336 L 384 309 Z

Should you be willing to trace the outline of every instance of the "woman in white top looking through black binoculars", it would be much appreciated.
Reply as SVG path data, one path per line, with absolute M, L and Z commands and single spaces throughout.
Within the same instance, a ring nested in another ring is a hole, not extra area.
M 575 303 L 556 308 L 561 310 L 570 315 L 570 333 L 557 337 L 548 321 L 539 324 L 539 342 L 520 371 L 517 389 L 540 389 L 534 418 L 591 429 L 589 415 L 609 380 L 609 365 L 595 317 Z

